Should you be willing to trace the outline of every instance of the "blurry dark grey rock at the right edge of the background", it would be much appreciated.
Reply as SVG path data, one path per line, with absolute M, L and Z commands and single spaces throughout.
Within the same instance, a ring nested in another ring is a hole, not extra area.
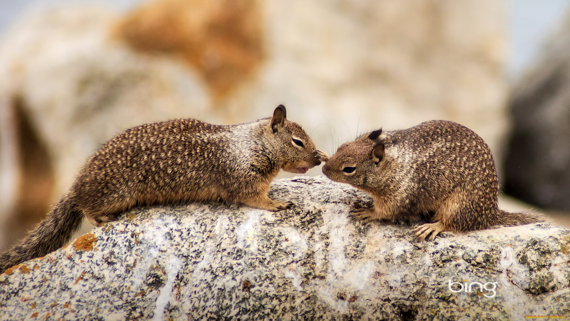
M 505 191 L 540 207 L 570 210 L 570 17 L 514 87 L 510 108 Z

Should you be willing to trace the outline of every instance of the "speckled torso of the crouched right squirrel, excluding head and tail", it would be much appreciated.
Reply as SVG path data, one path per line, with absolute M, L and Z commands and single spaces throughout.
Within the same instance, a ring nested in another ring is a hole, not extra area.
M 405 130 L 386 132 L 386 157 L 408 167 L 410 178 L 401 196 L 409 203 L 426 203 L 420 210 L 433 211 L 433 199 L 449 198 L 462 191 L 473 202 L 476 219 L 458 230 L 478 230 L 498 215 L 499 183 L 487 143 L 467 127 L 450 121 L 429 121 Z M 401 154 L 406 154 L 403 158 Z M 403 169 L 403 168 L 402 168 Z M 437 207 L 437 204 L 434 204 Z M 408 209 L 404 209 L 408 210 Z

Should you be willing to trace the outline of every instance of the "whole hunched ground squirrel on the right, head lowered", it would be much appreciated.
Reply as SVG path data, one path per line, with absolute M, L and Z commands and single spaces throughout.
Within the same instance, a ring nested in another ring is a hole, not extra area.
M 511 213 L 497 204 L 499 183 L 491 150 L 458 123 L 429 121 L 404 130 L 376 130 L 337 149 L 323 166 L 331 180 L 368 192 L 373 208 L 352 211 L 355 220 L 431 215 L 416 228 L 420 239 L 442 231 L 544 222 L 534 213 Z

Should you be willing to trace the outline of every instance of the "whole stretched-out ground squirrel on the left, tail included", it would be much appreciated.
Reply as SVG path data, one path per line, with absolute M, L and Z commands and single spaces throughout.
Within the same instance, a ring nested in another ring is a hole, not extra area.
M 177 119 L 134 127 L 107 142 L 70 190 L 20 243 L 0 254 L 0 271 L 68 242 L 85 216 L 100 224 L 141 204 L 243 203 L 279 211 L 267 196 L 280 170 L 304 174 L 326 160 L 279 105 L 272 118 L 233 126 Z

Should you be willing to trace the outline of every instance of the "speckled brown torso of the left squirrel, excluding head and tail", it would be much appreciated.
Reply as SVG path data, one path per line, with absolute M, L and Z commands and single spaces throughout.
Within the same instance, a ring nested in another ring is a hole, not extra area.
M 133 196 L 149 204 L 227 199 L 236 181 L 253 170 L 253 158 L 274 158 L 271 150 L 252 150 L 263 146 L 261 131 L 268 122 L 221 126 L 177 119 L 133 127 L 88 160 L 72 186 L 80 191 L 76 202 L 91 206 L 95 200 L 103 210 Z M 279 168 L 267 162 L 263 169 L 270 175 Z

